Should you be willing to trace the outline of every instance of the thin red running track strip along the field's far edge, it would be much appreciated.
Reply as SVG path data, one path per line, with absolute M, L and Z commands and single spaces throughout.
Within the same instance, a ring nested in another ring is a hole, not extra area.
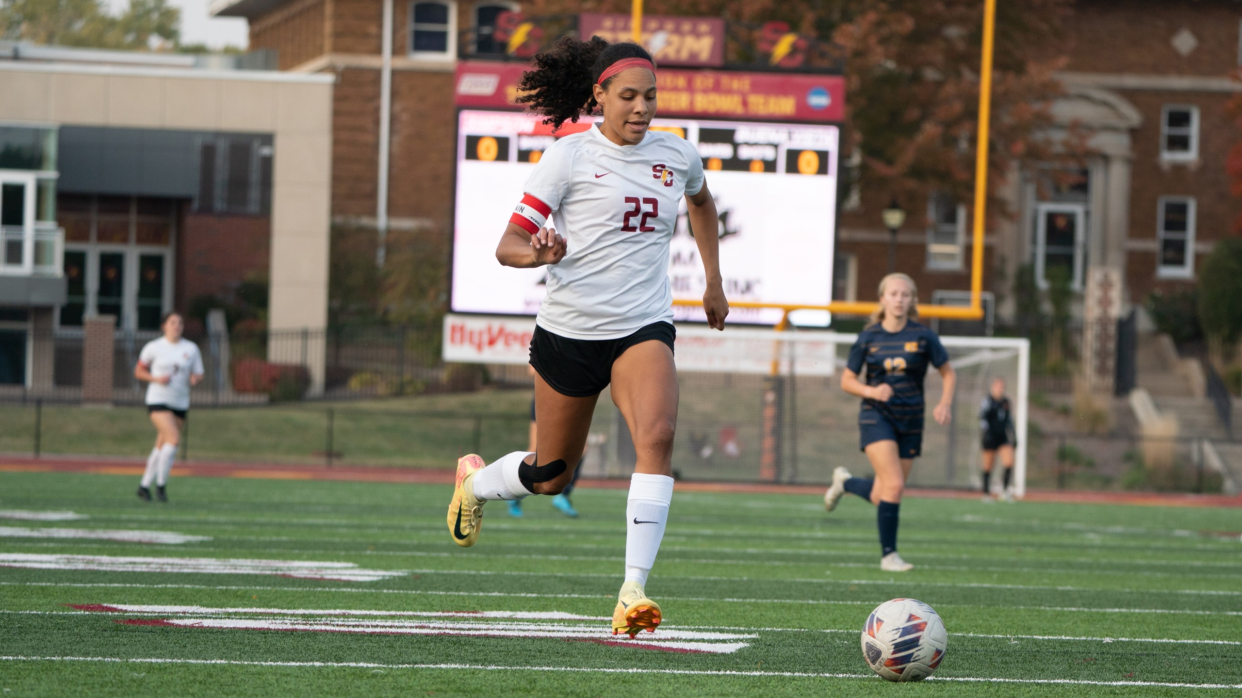
M 132 460 L 99 457 L 83 458 L 31 458 L 0 456 L 0 473 L 5 472 L 79 472 L 94 474 L 125 474 L 140 477 L 144 463 Z M 173 468 L 178 477 L 240 477 L 257 479 L 335 479 L 350 482 L 401 482 L 450 484 L 453 471 L 447 468 L 402 468 L 366 466 L 304 466 L 281 463 L 214 463 L 193 461 L 178 463 Z M 628 479 L 580 479 L 579 487 L 621 489 L 630 487 Z M 678 489 L 687 492 L 743 492 L 766 494 L 822 496 L 818 484 L 768 484 L 750 482 L 679 482 Z M 964 489 L 907 489 L 908 497 L 941 499 L 974 499 L 977 492 Z M 1061 502 L 1072 504 L 1139 504 L 1146 507 L 1232 507 L 1242 508 L 1242 497 L 1223 494 L 1181 494 L 1158 492 L 1084 492 L 1058 489 L 1028 489 L 1027 502 Z

